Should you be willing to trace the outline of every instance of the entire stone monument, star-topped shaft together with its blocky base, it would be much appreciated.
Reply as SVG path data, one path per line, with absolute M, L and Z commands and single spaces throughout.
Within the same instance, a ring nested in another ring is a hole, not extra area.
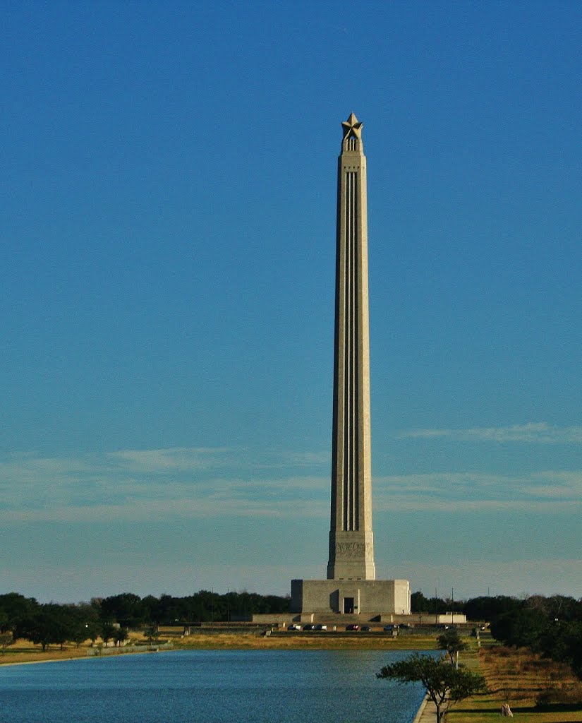
M 338 159 L 331 529 L 326 580 L 292 580 L 292 612 L 409 615 L 407 580 L 376 580 L 372 533 L 368 210 L 362 124 Z

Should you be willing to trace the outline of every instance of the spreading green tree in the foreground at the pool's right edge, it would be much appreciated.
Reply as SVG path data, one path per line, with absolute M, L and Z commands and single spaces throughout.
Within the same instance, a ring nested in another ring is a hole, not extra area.
M 485 678 L 479 673 L 444 664 L 427 655 L 414 653 L 404 660 L 386 665 L 376 677 L 396 680 L 401 685 L 422 683 L 436 707 L 436 723 L 441 723 L 454 703 L 487 691 Z

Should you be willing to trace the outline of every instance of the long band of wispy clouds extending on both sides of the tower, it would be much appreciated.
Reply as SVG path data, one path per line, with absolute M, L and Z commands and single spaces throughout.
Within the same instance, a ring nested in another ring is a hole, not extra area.
M 329 515 L 329 474 L 304 474 L 323 455 L 269 452 L 287 458 L 253 466 L 249 450 L 118 450 L 86 458 L 19 455 L 0 462 L 0 519 L 6 521 L 148 521 Z M 295 474 L 289 461 L 295 459 Z M 325 460 L 327 462 L 327 460 Z M 513 510 L 582 512 L 582 471 L 531 474 L 455 472 L 375 477 L 374 510 L 424 513 Z

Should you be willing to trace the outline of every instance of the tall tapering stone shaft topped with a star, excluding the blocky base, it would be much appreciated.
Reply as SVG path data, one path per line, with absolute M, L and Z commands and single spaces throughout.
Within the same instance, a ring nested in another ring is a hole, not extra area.
M 368 210 L 362 124 L 342 123 L 338 158 L 329 580 L 375 580 L 370 452 Z

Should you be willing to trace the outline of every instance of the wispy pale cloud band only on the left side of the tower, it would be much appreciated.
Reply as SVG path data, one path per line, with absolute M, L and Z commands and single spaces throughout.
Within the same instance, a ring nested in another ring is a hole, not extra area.
M 0 520 L 323 515 L 329 479 L 301 474 L 302 455 L 296 456 L 299 474 L 287 463 L 287 474 L 265 476 L 264 466 L 248 463 L 248 450 L 230 448 L 119 450 L 79 459 L 19 455 L 0 461 Z

